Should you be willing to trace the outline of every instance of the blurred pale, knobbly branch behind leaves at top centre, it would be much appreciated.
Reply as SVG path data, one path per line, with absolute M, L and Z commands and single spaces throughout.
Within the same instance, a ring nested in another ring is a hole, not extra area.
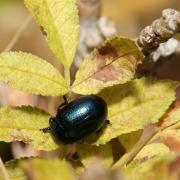
M 114 22 L 101 17 L 101 0 L 80 0 L 81 32 L 75 66 L 79 67 L 91 51 L 101 45 L 107 37 L 117 34 Z

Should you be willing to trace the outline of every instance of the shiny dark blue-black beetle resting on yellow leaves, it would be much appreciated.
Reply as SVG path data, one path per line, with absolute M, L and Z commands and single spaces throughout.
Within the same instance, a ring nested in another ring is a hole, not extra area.
M 41 129 L 44 133 L 50 132 L 56 140 L 71 144 L 109 124 L 107 103 L 101 97 L 82 96 L 70 103 L 65 96 L 63 98 L 64 103 L 59 106 L 56 116 L 49 119 L 49 127 Z

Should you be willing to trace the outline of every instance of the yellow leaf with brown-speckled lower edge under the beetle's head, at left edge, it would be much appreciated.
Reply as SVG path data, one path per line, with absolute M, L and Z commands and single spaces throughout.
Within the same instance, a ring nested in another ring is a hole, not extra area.
M 49 126 L 50 115 L 32 107 L 0 108 L 0 141 L 23 141 L 36 150 L 58 148 L 49 133 L 40 129 Z

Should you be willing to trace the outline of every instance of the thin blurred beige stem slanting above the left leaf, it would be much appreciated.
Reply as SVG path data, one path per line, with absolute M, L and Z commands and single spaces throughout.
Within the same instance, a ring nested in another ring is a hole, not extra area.
M 22 32 L 27 28 L 27 26 L 31 22 L 31 20 L 32 20 L 32 16 L 28 15 L 26 17 L 24 23 L 22 24 L 22 26 L 18 29 L 18 31 L 15 33 L 15 35 L 10 40 L 8 45 L 5 47 L 4 52 L 10 51 L 13 48 L 13 46 L 16 44 L 16 42 L 19 39 L 19 37 L 21 36 Z

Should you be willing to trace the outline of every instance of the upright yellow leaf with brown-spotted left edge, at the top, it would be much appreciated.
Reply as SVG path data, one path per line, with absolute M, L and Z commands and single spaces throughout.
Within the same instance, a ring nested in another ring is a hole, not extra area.
M 79 35 L 76 0 L 24 0 L 49 47 L 65 67 L 75 56 Z

